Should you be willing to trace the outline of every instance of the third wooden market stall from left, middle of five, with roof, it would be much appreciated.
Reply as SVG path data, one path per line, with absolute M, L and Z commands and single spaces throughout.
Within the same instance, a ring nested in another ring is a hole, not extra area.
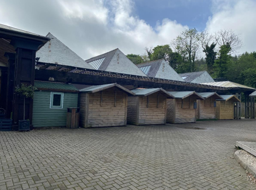
M 175 99 L 167 99 L 167 123 L 196 122 L 197 99 L 204 98 L 194 91 L 168 93 Z

